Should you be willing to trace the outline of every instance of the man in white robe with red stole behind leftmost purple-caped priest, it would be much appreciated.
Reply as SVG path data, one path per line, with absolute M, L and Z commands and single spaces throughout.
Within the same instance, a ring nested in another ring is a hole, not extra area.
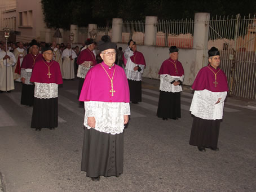
M 22 64 L 22 61 L 23 61 L 23 58 L 25 57 L 25 55 L 27 55 L 27 51 L 23 48 L 23 43 L 19 42 L 19 47 L 15 48 L 15 50 L 14 50 L 14 56 L 15 56 L 15 59 L 17 62 L 13 68 L 14 79 L 17 82 L 21 82 L 20 69 L 21 69 L 21 64 Z M 17 68 L 17 70 L 16 70 L 16 68 Z

